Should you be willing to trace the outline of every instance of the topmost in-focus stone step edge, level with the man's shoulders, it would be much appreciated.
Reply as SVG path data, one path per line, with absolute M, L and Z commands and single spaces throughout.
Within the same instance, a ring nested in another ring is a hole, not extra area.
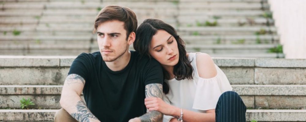
M 0 67 L 70 67 L 76 56 L 0 56 Z M 306 59 L 218 58 L 219 67 L 306 68 Z

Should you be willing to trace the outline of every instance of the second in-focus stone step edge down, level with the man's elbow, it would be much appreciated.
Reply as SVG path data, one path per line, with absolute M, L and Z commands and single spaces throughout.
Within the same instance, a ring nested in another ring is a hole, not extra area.
M 306 85 L 231 85 L 239 95 L 306 96 Z M 1 95 L 61 95 L 62 85 L 0 85 Z

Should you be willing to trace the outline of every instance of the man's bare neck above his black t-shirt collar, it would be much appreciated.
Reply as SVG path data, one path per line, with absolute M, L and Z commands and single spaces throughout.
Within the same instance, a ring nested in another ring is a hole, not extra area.
M 127 51 L 121 57 L 112 62 L 105 62 L 106 66 L 112 71 L 120 71 L 123 70 L 131 59 L 131 52 Z

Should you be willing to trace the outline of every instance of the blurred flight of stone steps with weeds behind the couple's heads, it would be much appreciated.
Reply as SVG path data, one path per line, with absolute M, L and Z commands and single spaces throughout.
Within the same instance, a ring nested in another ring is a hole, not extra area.
M 282 58 L 267 0 L 0 0 L 0 55 L 77 56 L 96 52 L 95 16 L 106 5 L 131 8 L 139 24 L 174 26 L 188 52 L 214 57 Z M 2 33 L 2 34 L 1 34 Z M 132 49 L 132 46 L 131 46 Z

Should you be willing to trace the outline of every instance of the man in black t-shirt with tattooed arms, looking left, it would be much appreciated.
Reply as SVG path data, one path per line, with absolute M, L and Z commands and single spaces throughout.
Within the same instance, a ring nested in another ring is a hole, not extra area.
M 100 52 L 82 53 L 65 80 L 56 122 L 158 122 L 162 113 L 146 113 L 144 99 L 162 99 L 162 67 L 129 51 L 137 19 L 132 10 L 106 6 L 95 20 Z M 84 100 L 80 95 L 83 91 Z M 135 117 L 135 118 L 134 118 Z

